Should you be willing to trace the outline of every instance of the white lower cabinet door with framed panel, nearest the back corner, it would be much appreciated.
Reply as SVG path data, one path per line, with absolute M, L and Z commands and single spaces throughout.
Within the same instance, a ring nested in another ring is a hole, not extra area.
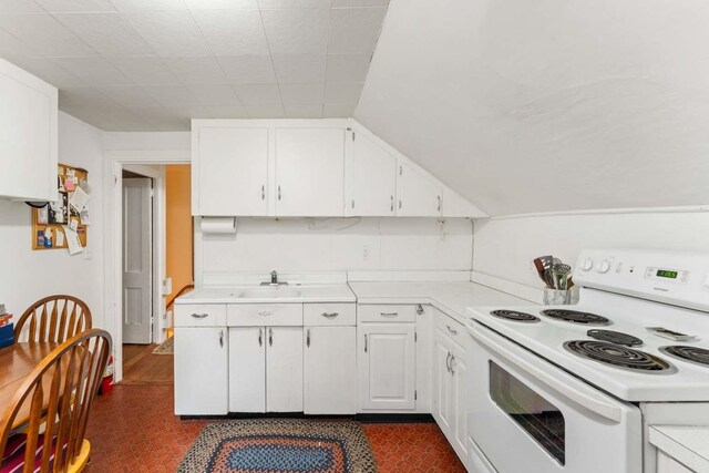
M 362 409 L 414 409 L 414 323 L 359 327 L 359 389 Z

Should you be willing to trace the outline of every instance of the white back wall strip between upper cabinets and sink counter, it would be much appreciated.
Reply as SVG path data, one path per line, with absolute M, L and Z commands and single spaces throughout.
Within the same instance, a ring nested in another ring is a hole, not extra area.
M 463 218 L 243 218 L 236 235 L 205 235 L 203 251 L 205 273 L 470 270 L 472 228 Z

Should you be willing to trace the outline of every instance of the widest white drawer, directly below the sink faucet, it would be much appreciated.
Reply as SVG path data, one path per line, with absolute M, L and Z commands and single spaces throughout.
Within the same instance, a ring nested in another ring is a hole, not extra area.
M 302 304 L 229 304 L 226 322 L 229 327 L 301 327 Z

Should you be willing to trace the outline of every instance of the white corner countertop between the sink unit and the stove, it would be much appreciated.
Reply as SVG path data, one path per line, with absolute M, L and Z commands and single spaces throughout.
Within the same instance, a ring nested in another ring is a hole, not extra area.
M 359 304 L 430 304 L 464 323 L 471 306 L 528 306 L 526 299 L 467 281 L 350 282 Z

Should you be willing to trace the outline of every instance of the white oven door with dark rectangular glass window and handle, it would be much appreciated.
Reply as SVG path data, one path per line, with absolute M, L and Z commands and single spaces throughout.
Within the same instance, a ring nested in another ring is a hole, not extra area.
M 500 473 L 640 473 L 640 410 L 471 320 L 469 434 Z

